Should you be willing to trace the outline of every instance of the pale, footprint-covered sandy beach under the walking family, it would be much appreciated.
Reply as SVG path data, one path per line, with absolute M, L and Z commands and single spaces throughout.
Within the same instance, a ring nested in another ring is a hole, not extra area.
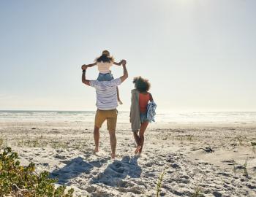
M 162 172 L 160 196 L 256 196 L 255 123 L 153 123 L 140 157 L 133 154 L 129 123 L 118 123 L 115 161 L 105 126 L 94 154 L 93 126 L 93 121 L 1 121 L 0 139 L 23 165 L 34 162 L 37 171 L 50 171 L 60 185 L 74 188 L 75 196 L 156 196 Z

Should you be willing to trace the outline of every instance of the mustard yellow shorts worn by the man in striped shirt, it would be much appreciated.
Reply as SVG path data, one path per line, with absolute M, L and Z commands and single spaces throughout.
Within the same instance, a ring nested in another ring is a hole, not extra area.
M 99 110 L 97 109 L 95 115 L 95 125 L 98 128 L 102 127 L 102 124 L 107 120 L 108 131 L 116 131 L 116 120 L 118 111 L 116 109 L 111 110 Z

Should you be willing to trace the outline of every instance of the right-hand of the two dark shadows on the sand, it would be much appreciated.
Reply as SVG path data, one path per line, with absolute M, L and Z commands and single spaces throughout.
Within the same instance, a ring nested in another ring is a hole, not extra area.
M 125 156 L 121 161 L 113 161 L 97 178 L 91 179 L 91 183 L 103 183 L 111 187 L 126 187 L 127 181 L 124 179 L 129 176 L 131 178 L 139 178 L 141 168 L 138 166 L 138 157 Z

